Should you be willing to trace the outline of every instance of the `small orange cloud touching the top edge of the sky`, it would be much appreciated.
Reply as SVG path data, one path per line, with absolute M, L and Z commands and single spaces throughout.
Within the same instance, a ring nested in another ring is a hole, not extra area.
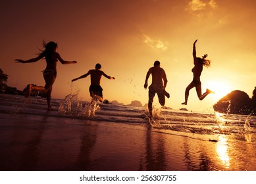
M 188 2 L 186 11 L 189 11 L 189 12 L 202 11 L 207 8 L 207 5 L 212 9 L 217 8 L 217 3 L 215 2 L 215 0 L 210 0 L 208 1 L 208 3 L 205 3 L 205 1 L 201 1 L 201 0 L 191 0 L 190 2 Z

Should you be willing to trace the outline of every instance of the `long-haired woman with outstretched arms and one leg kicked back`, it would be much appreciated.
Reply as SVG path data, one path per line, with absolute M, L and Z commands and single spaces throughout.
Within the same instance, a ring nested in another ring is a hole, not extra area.
M 60 60 L 62 64 L 72 64 L 76 63 L 73 61 L 66 61 L 61 58 L 61 55 L 56 52 L 58 47 L 57 43 L 50 41 L 49 43 L 43 42 L 44 51 L 41 51 L 38 57 L 31 58 L 29 60 L 16 59 L 16 62 L 28 63 L 28 62 L 36 62 L 41 58 L 45 58 L 46 60 L 46 68 L 43 70 L 43 78 L 45 80 L 45 86 L 37 86 L 28 84 L 27 91 L 25 93 L 25 97 L 30 96 L 30 92 L 32 90 L 41 91 L 46 93 L 46 99 L 48 104 L 48 110 L 51 110 L 51 91 L 53 89 L 53 83 L 57 77 L 57 61 Z

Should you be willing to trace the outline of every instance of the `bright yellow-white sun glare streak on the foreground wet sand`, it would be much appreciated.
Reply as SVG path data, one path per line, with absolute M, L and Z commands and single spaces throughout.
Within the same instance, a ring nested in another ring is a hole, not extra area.
M 226 135 L 220 135 L 217 143 L 218 158 L 222 161 L 225 168 L 230 166 L 230 156 L 228 155 L 228 143 Z

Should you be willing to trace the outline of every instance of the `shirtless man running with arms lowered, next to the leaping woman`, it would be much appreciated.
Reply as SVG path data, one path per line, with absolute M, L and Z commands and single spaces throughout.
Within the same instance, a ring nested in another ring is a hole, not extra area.
M 147 80 L 152 74 L 152 83 L 149 86 L 149 115 L 152 116 L 152 104 L 153 99 L 155 97 L 155 93 L 157 93 L 159 103 L 161 106 L 165 105 L 165 96 L 167 98 L 170 97 L 170 95 L 165 91 L 165 87 L 167 84 L 167 78 L 165 74 L 165 70 L 160 67 L 160 62 L 158 60 L 155 61 L 154 67 L 149 68 L 149 71 L 147 72 L 146 78 L 145 78 L 145 84 L 144 88 L 147 89 Z

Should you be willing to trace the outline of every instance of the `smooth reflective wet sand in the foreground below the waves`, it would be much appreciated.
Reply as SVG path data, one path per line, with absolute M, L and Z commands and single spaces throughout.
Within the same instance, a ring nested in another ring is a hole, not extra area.
M 195 135 L 140 122 L 32 114 L 0 118 L 0 170 L 256 170 L 255 142 L 245 141 L 251 135 Z

